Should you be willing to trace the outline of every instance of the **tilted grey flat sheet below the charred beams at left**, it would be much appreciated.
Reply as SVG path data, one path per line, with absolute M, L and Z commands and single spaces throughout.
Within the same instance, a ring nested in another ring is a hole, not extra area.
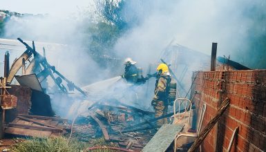
M 35 74 L 15 76 L 21 86 L 28 86 L 35 91 L 43 91 Z

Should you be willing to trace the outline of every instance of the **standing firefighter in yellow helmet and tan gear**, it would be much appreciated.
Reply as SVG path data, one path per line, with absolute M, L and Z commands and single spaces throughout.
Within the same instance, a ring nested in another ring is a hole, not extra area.
M 151 105 L 155 109 L 155 117 L 167 115 L 168 111 L 168 96 L 169 96 L 169 85 L 171 82 L 171 75 L 167 64 L 160 64 L 157 68 L 157 78 L 154 90 L 154 97 Z M 158 120 L 157 125 L 167 124 L 167 117 Z

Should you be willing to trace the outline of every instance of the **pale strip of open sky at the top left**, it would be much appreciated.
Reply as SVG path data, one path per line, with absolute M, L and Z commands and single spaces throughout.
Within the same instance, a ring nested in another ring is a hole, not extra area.
M 0 0 L 0 9 L 30 14 L 69 15 L 88 8 L 93 0 Z M 60 6 L 60 7 L 58 7 Z

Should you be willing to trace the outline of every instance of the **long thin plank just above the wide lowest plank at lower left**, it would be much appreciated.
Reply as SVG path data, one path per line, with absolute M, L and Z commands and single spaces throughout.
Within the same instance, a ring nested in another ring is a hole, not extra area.
M 63 132 L 62 129 L 50 128 L 47 126 L 32 126 L 32 125 L 27 125 L 27 124 L 15 124 L 15 123 L 9 123 L 8 126 L 9 127 L 18 127 L 18 128 L 23 128 L 23 129 L 36 129 L 36 130 L 41 130 L 41 131 Z

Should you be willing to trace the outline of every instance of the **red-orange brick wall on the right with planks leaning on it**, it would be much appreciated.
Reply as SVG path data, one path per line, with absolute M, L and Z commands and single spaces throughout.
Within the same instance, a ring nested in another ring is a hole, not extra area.
M 196 78 L 196 79 L 195 79 Z M 230 106 L 202 144 L 204 151 L 225 151 L 239 127 L 231 151 L 266 151 L 266 70 L 196 72 L 191 93 L 198 111 L 207 104 L 202 129 L 223 99 Z

